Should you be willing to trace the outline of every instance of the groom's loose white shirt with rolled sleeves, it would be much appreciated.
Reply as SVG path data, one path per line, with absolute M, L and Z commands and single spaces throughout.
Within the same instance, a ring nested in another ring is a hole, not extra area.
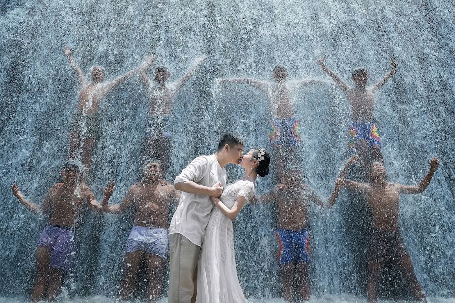
M 226 185 L 226 169 L 222 168 L 215 155 L 194 159 L 178 175 L 174 184 L 193 181 L 211 187 L 216 182 Z M 210 196 L 182 192 L 177 210 L 169 225 L 169 234 L 179 233 L 198 246 L 202 246 L 205 228 L 210 219 L 213 204 Z

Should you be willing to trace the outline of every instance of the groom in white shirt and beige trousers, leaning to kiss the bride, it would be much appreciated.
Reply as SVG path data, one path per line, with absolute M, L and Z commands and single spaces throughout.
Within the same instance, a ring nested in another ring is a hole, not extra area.
M 226 185 L 224 166 L 239 164 L 242 153 L 243 142 L 225 134 L 215 154 L 194 159 L 175 178 L 175 189 L 183 193 L 169 226 L 169 303 L 196 300 L 199 252 L 213 208 L 210 197 L 221 195 Z

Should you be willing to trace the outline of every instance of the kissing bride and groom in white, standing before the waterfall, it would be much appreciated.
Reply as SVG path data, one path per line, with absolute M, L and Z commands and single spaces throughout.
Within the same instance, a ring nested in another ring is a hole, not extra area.
M 226 164 L 245 169 L 226 184 Z M 245 302 L 237 277 L 232 220 L 255 194 L 257 176 L 268 174 L 270 155 L 225 134 L 218 150 L 194 159 L 175 178 L 182 192 L 169 226 L 169 303 Z

